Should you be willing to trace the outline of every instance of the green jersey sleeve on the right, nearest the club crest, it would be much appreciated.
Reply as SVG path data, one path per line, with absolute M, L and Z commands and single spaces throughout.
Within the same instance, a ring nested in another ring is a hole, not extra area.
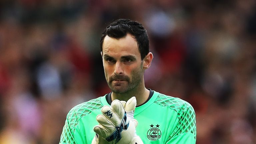
M 193 107 L 184 103 L 177 115 L 177 125 L 169 136 L 166 144 L 195 144 L 196 143 L 196 117 Z

